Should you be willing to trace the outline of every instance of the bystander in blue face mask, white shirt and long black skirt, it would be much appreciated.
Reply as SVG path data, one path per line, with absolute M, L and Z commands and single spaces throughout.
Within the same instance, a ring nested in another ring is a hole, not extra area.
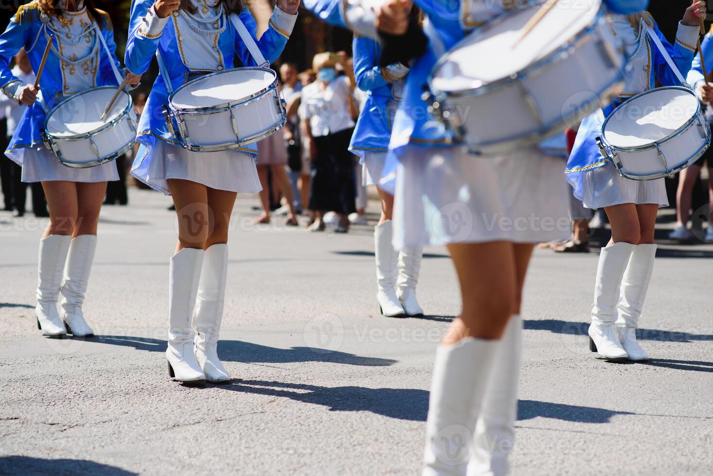
M 339 217 L 336 231 L 346 233 L 349 214 L 356 211 L 353 156 L 348 149 L 357 110 L 354 81 L 348 73 L 337 77 L 337 64 L 343 61 L 343 56 L 333 53 L 315 55 L 317 81 L 302 90 L 302 134 L 312 159 L 309 209 L 314 210 L 315 220 L 311 231 L 324 230 L 324 212 L 333 211 Z

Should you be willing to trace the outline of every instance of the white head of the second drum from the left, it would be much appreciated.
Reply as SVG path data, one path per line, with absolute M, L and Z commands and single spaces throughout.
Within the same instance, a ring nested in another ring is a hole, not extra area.
M 275 71 L 265 68 L 223 71 L 183 86 L 173 94 L 171 103 L 182 109 L 232 103 L 268 88 L 275 78 Z

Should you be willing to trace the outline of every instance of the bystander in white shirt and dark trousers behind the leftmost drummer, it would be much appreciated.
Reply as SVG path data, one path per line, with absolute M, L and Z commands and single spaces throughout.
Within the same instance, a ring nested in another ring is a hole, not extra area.
M 33 84 L 35 82 L 35 73 L 32 71 L 32 65 L 30 64 L 30 59 L 27 57 L 27 53 L 24 48 L 19 51 L 15 56 L 15 66 L 12 68 L 12 73 L 16 78 L 22 81 L 23 84 Z M 16 100 L 3 100 L 1 101 L 3 108 L 0 108 L 0 115 L 4 114 L 7 118 L 7 133 L 2 136 L 4 143 L 3 151 L 6 149 L 10 138 L 15 133 L 17 125 L 20 123 L 22 116 L 27 109 L 24 104 L 18 103 Z M 11 197 L 5 197 L 5 202 L 8 202 L 8 198 L 11 199 L 13 214 L 16 217 L 22 217 L 25 214 L 25 203 L 27 197 L 27 185 L 22 182 L 22 167 L 17 165 L 10 159 L 3 157 L 3 171 L 7 170 L 7 180 L 9 181 L 8 193 Z M 3 179 L 5 182 L 5 179 Z M 29 184 L 32 187 L 32 211 L 36 217 L 49 217 L 49 212 L 47 211 L 47 202 L 45 200 L 44 191 L 42 190 L 41 182 L 33 182 Z M 6 193 L 3 191 L 3 193 Z

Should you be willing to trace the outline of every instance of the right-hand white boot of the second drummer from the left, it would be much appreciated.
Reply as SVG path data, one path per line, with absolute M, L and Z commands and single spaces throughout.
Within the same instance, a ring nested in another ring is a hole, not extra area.
M 220 363 L 217 354 L 226 278 L 227 244 L 213 244 L 205 250 L 198 299 L 193 313 L 195 358 L 205 373 L 205 380 L 212 383 L 230 381 L 230 374 Z

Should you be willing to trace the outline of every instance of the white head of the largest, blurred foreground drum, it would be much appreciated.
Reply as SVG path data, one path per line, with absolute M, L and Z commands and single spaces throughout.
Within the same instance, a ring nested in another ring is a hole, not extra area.
M 592 24 L 600 5 L 600 0 L 560 1 L 514 47 L 540 8 L 530 6 L 493 21 L 446 53 L 431 86 L 443 93 L 470 90 L 522 71 Z

